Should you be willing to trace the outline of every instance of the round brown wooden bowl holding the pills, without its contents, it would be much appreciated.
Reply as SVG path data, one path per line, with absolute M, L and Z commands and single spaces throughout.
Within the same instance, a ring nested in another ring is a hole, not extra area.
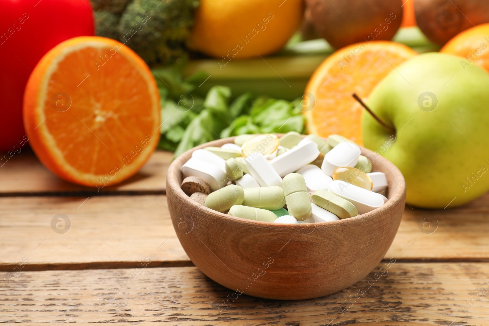
M 389 184 L 389 200 L 367 214 L 323 223 L 254 221 L 201 206 L 180 189 L 180 168 L 193 151 L 233 139 L 181 154 L 170 165 L 166 182 L 170 216 L 183 249 L 202 273 L 236 291 L 224 298 L 226 305 L 242 293 L 278 300 L 324 296 L 355 284 L 377 266 L 404 210 L 406 186 L 394 164 L 362 148 L 363 155 L 375 158 L 372 171 L 384 172 Z

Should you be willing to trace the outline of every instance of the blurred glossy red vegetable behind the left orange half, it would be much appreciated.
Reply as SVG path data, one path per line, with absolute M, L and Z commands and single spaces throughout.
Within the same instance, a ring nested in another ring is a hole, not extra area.
M 93 35 L 90 2 L 2 0 L 0 32 L 0 151 L 7 152 L 25 140 L 22 96 L 35 65 L 56 44 Z

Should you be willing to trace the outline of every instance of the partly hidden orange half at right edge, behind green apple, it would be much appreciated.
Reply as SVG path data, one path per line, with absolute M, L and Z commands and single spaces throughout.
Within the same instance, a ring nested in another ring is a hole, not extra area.
M 440 52 L 464 58 L 463 65 L 476 64 L 489 71 L 489 23 L 455 35 Z

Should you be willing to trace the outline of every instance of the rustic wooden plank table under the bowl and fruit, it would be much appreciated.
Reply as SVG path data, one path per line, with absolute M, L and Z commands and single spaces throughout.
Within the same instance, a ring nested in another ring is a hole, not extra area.
M 4 162 L 0 322 L 489 325 L 489 195 L 456 209 L 406 205 L 384 261 L 341 292 L 304 301 L 241 295 L 227 306 L 234 291 L 203 275 L 176 237 L 165 197 L 171 157 L 156 152 L 100 192 L 60 180 L 29 150 Z

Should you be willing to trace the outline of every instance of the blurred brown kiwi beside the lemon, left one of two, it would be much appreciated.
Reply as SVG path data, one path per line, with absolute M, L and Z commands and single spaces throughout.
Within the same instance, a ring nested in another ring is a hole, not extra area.
M 306 0 L 318 34 L 338 49 L 390 40 L 402 21 L 402 0 Z

